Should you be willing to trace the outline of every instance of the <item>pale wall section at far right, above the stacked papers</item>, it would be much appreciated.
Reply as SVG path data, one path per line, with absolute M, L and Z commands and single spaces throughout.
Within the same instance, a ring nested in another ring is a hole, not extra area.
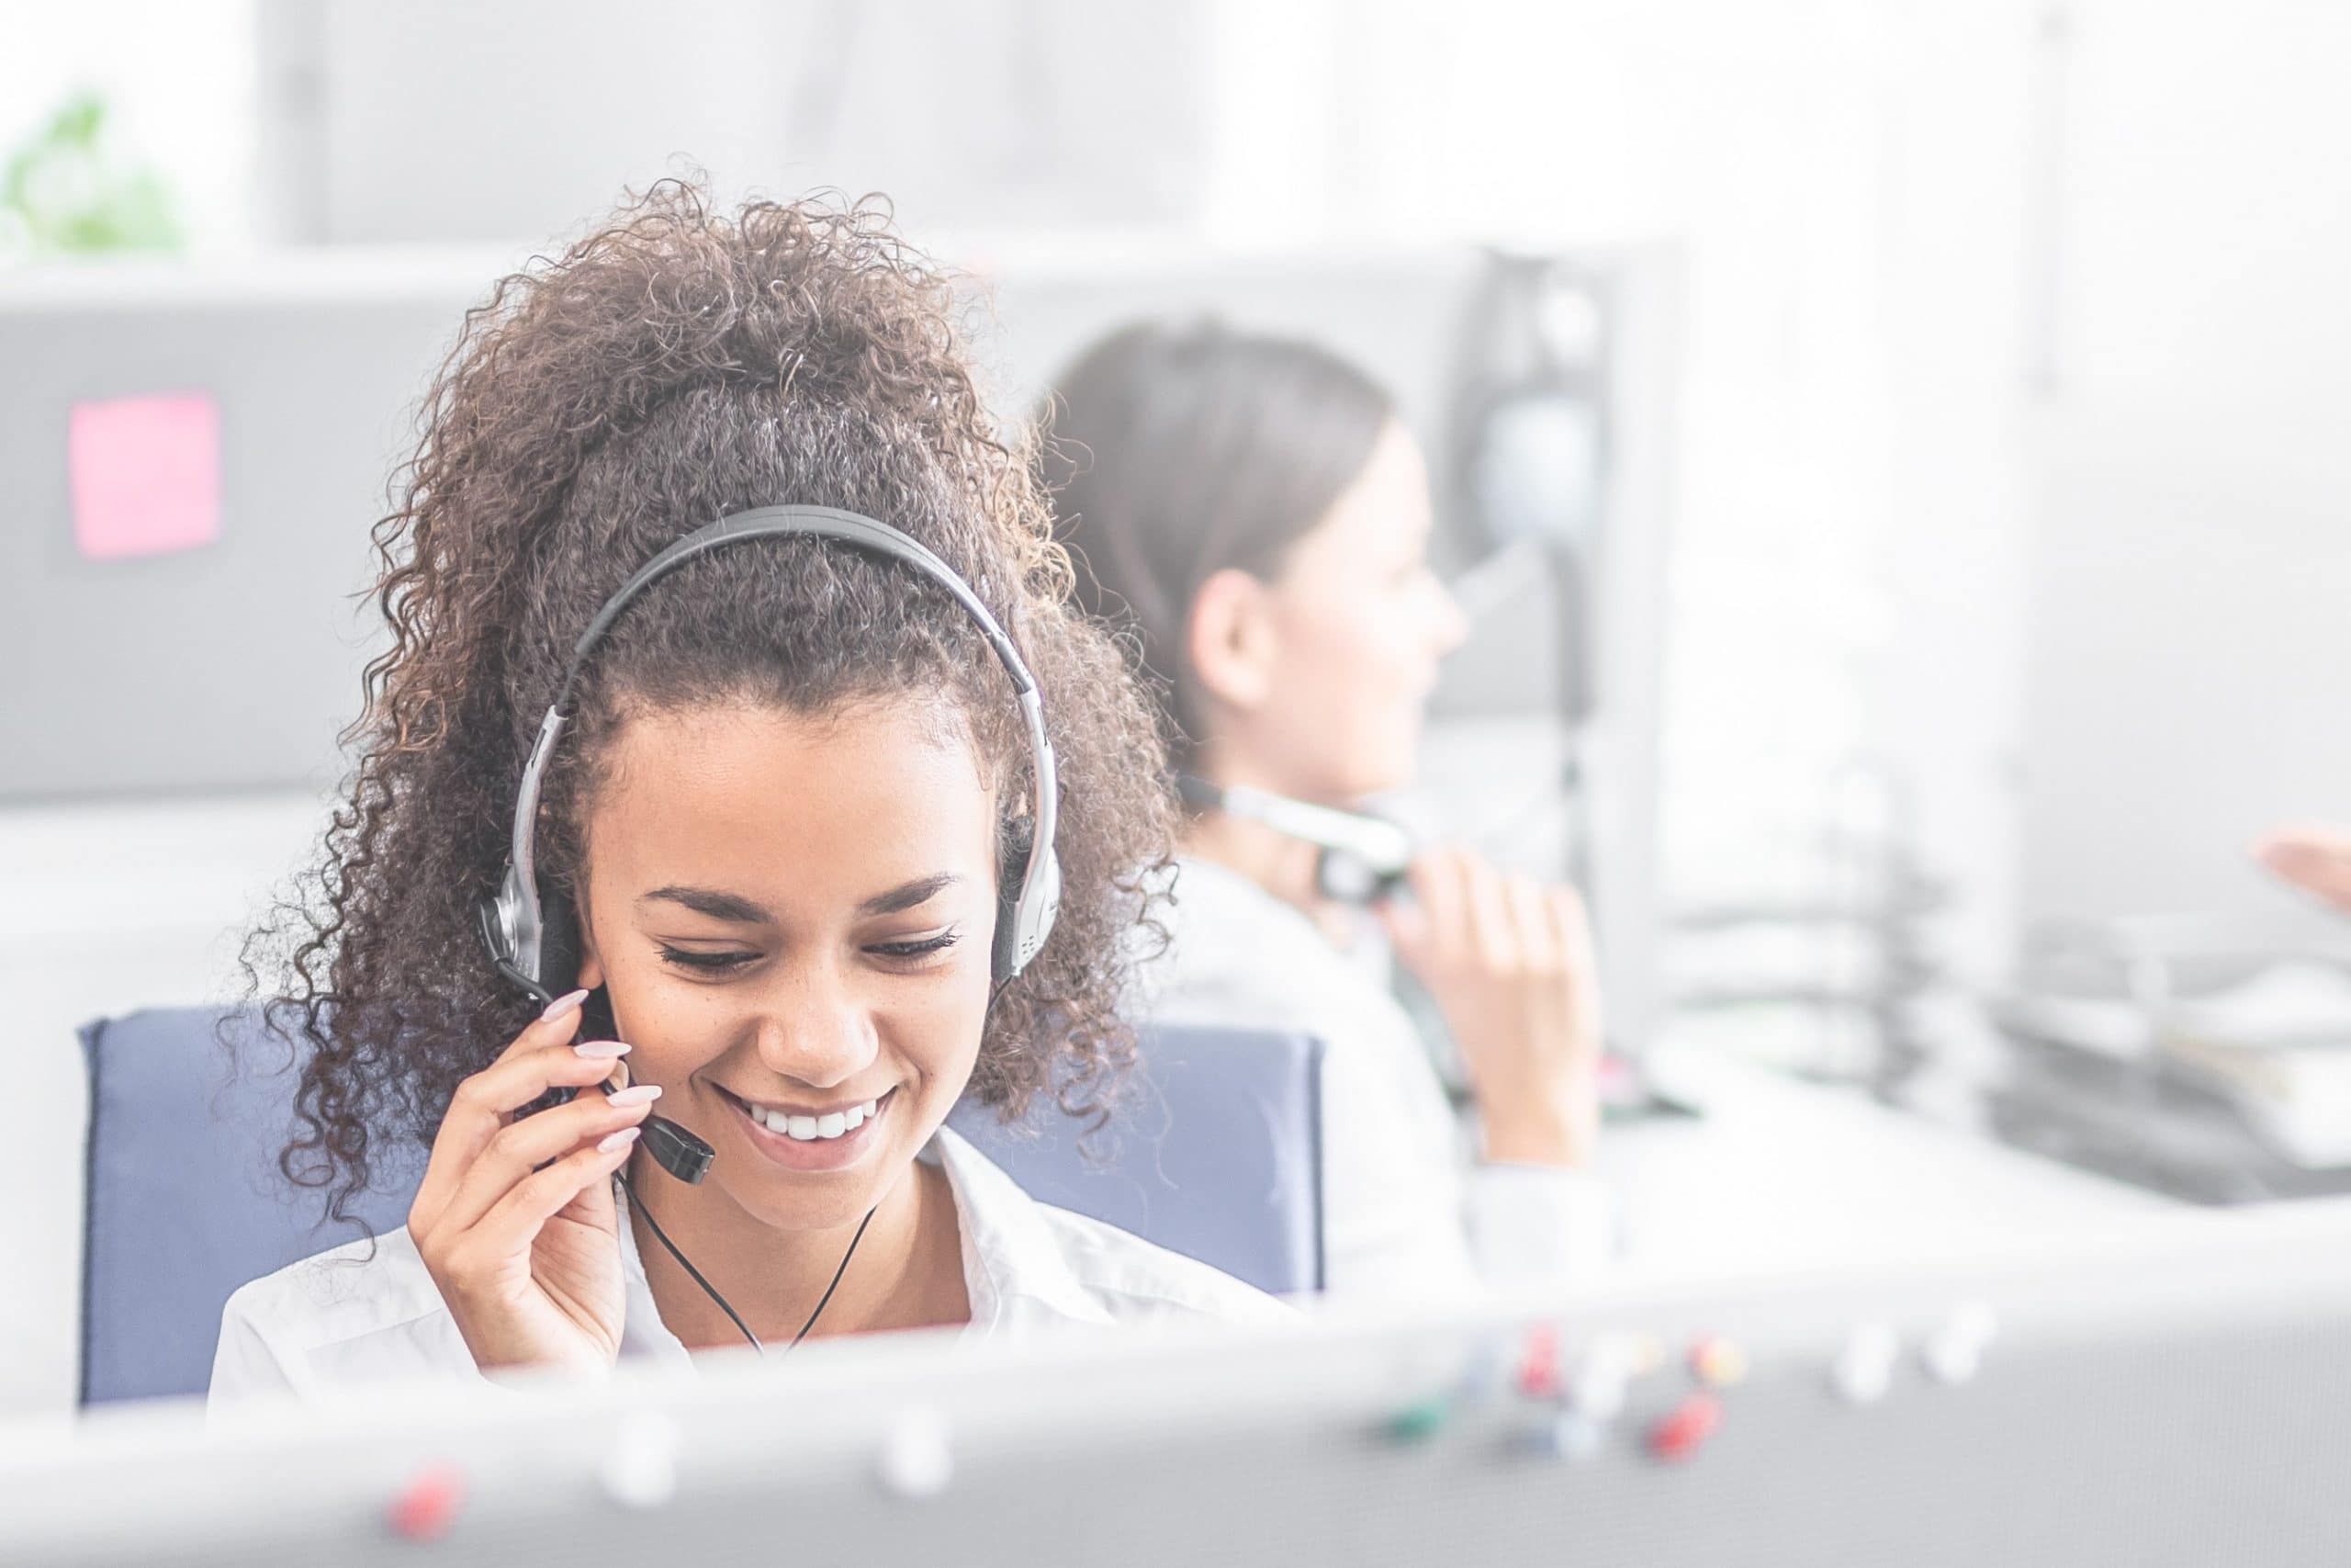
M 2255 912 L 2351 818 L 2351 9 L 2067 12 L 2022 900 Z

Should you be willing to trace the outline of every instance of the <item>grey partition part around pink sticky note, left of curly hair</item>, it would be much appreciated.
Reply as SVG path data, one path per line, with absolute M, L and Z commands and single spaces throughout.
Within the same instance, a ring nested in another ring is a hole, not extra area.
M 357 710 L 369 527 L 411 409 L 491 268 L 320 259 L 0 284 L 0 802 L 320 785 Z M 207 393 L 216 543 L 87 559 L 66 430 Z

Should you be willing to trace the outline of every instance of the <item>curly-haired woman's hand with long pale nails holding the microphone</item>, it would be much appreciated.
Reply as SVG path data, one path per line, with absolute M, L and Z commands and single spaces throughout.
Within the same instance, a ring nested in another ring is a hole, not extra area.
M 578 997 L 458 1084 L 409 1206 L 416 1241 L 475 1366 L 611 1366 L 621 1354 L 621 1237 L 611 1173 L 661 1088 L 604 1095 L 628 1046 L 574 1046 Z M 513 1114 L 550 1088 L 567 1105 Z

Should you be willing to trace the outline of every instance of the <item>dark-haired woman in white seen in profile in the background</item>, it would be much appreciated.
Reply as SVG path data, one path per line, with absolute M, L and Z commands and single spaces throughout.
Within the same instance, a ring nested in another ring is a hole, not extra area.
M 1462 639 L 1429 569 L 1429 482 L 1382 388 L 1295 341 L 1128 327 L 1056 381 L 1049 482 L 1079 592 L 1131 628 L 1194 799 L 1347 809 L 1413 778 Z M 1589 1175 L 1599 994 L 1570 889 L 1427 849 L 1373 922 L 1317 849 L 1206 809 L 1143 1011 L 1324 1041 L 1333 1293 L 1556 1281 L 1606 1255 Z M 1467 1065 L 1476 1135 L 1385 976 L 1422 980 Z

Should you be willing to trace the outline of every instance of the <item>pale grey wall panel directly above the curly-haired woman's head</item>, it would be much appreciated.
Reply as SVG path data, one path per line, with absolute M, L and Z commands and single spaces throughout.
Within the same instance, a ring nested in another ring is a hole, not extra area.
M 289 0 L 334 242 L 578 230 L 698 165 L 724 195 L 886 190 L 933 223 L 1140 221 L 1199 200 L 1197 7 L 1121 0 Z M 280 94 L 284 101 L 289 94 Z M 292 94 L 299 96 L 299 94 Z

